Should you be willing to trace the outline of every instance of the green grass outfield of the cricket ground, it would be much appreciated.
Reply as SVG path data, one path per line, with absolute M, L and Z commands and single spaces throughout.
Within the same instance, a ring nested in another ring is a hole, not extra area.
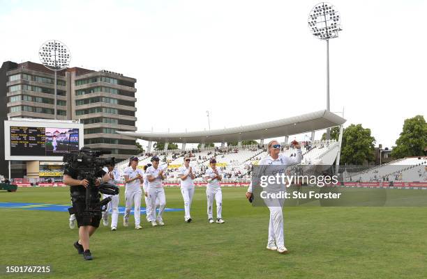
M 269 210 L 252 207 L 244 188 L 223 189 L 224 224 L 209 224 L 204 189 L 196 189 L 193 223 L 165 212 L 164 227 L 91 238 L 93 261 L 73 248 L 77 229 L 66 212 L 0 208 L 0 265 L 50 264 L 52 274 L 2 278 L 427 278 L 427 207 L 289 207 L 290 253 L 266 250 Z M 408 190 L 410 191 L 410 190 Z M 167 207 L 183 208 L 178 188 Z M 0 202 L 68 204 L 68 188 L 0 191 Z M 121 203 L 123 205 L 123 193 Z M 215 209 L 214 209 L 215 211 Z

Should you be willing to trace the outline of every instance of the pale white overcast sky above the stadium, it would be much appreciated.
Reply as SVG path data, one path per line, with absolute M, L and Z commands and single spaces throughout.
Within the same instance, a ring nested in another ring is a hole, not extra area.
M 204 129 L 207 110 L 214 129 L 325 107 L 325 44 L 306 24 L 315 2 L 30 3 L 0 12 L 1 61 L 38 61 L 41 43 L 61 40 L 72 66 L 137 78 L 140 130 Z M 427 5 L 334 4 L 343 31 L 330 42 L 331 111 L 345 107 L 347 125 L 391 146 L 405 118 L 426 112 Z

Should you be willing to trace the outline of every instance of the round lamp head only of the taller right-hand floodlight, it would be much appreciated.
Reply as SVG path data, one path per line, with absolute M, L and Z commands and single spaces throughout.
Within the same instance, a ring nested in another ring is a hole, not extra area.
M 340 13 L 331 3 L 318 3 L 308 15 L 310 31 L 320 40 L 338 37 L 338 31 L 341 31 L 340 24 Z

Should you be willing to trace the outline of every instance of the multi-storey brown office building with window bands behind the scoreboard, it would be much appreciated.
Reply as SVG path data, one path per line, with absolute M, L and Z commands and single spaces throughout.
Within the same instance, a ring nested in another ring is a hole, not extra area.
M 85 146 L 110 150 L 118 160 L 136 154 L 135 139 L 116 133 L 136 131 L 136 79 L 80 67 L 66 68 L 57 74 L 57 119 L 80 119 L 84 124 Z M 54 119 L 52 70 L 38 63 L 7 61 L 0 69 L 0 82 L 0 106 L 3 106 L 0 131 L 8 117 Z M 4 146 L 3 138 L 0 144 Z M 0 156 L 1 162 L 4 154 Z M 6 166 L 3 162 L 1 166 Z M 23 166 L 22 162 L 14 165 L 17 169 L 22 169 L 17 165 Z M 4 172 L 0 168 L 0 173 Z

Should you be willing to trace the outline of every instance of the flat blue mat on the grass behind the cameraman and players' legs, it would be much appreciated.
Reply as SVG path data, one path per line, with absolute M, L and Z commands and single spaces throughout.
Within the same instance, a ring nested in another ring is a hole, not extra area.
M 26 210 L 45 210 L 48 212 L 68 212 L 71 205 L 55 205 L 52 203 L 31 203 L 31 202 L 0 202 L 0 208 L 26 209 Z M 119 207 L 119 213 L 124 214 L 124 207 Z M 165 208 L 165 212 L 181 212 L 181 208 Z M 141 213 L 145 214 L 147 210 L 141 207 Z M 133 214 L 133 209 L 130 211 Z

